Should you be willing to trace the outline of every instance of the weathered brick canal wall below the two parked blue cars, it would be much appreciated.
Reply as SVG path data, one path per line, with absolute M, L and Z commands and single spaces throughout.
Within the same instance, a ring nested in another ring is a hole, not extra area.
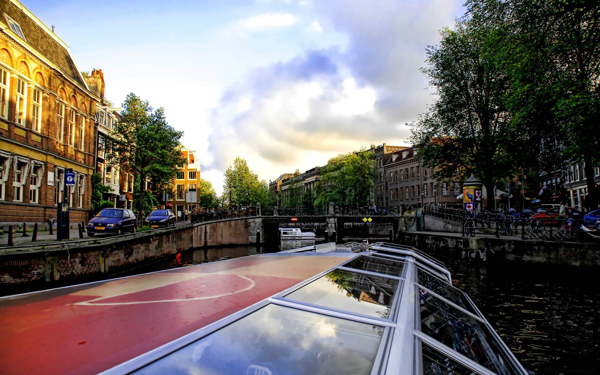
M 73 284 L 74 280 L 78 283 L 98 280 L 106 274 L 127 271 L 190 248 L 253 244 L 256 230 L 262 231 L 260 218 L 219 220 L 65 242 L 60 247 L 13 249 L 0 255 L 0 285 L 42 289 Z

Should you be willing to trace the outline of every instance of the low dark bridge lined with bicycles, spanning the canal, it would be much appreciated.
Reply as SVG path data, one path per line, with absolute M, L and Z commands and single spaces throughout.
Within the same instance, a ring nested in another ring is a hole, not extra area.
M 324 209 L 313 207 L 269 207 L 262 208 L 260 203 L 253 208 L 223 209 L 194 212 L 192 224 L 205 227 L 206 245 L 211 245 L 217 238 L 235 236 L 242 241 L 247 234 L 247 241 L 240 243 L 278 243 L 279 228 L 289 224 L 314 224 L 323 229 L 328 241 L 343 241 L 351 236 L 352 227 L 347 224 L 389 224 L 386 233 L 395 240 L 400 228 L 401 212 L 398 206 L 386 208 L 344 208 L 329 203 Z M 391 230 L 391 233 L 389 232 Z M 235 233 L 234 233 L 235 232 Z M 354 235 L 356 238 L 356 235 Z

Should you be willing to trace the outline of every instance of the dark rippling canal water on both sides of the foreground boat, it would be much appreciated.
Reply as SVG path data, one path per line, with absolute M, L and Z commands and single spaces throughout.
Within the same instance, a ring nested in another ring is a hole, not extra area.
M 319 240 L 316 240 L 317 243 Z M 281 250 L 315 244 L 282 241 Z M 278 251 L 279 248 L 271 251 Z M 258 254 L 253 246 L 198 248 L 128 274 Z M 572 266 L 441 259 L 453 283 L 479 310 L 527 370 L 536 374 L 600 374 L 600 289 L 597 271 Z M 122 276 L 122 275 L 119 275 Z

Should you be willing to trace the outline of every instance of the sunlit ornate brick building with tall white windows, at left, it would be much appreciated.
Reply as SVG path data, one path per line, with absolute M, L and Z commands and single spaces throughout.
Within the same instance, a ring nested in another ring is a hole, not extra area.
M 44 222 L 65 196 L 71 220 L 86 220 L 100 98 L 54 32 L 16 0 L 0 9 L 0 223 Z

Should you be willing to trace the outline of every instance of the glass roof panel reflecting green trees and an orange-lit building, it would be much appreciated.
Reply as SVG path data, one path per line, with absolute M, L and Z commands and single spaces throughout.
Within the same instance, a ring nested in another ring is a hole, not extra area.
M 391 278 L 336 269 L 286 298 L 387 319 L 397 286 Z

